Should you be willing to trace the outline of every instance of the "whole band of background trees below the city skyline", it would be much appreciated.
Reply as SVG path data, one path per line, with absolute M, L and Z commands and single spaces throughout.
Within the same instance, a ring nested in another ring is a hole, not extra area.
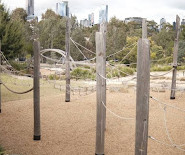
M 2 42 L 2 51 L 8 59 L 26 58 L 33 55 L 32 42 L 38 37 L 41 42 L 41 48 L 58 48 L 65 50 L 65 23 L 66 19 L 60 17 L 53 10 L 48 9 L 42 14 L 42 19 L 37 22 L 26 20 L 26 11 L 23 8 L 16 8 L 10 12 L 0 2 L 0 40 Z M 173 26 L 167 23 L 159 32 L 155 21 L 148 21 L 148 36 L 151 43 L 151 59 L 159 60 L 153 62 L 154 65 L 169 64 L 172 62 L 174 36 Z M 98 31 L 98 25 L 93 27 L 80 27 L 75 16 L 71 18 L 71 37 L 74 41 L 95 51 L 95 32 Z M 33 33 L 34 32 L 34 33 Z M 125 24 L 123 21 L 113 17 L 108 23 L 107 32 L 107 55 L 114 54 L 122 50 L 117 55 L 109 57 L 107 60 L 121 61 L 123 64 L 136 63 L 137 60 L 137 41 L 141 37 L 141 26 L 130 22 Z M 134 46 L 135 45 L 135 46 Z M 79 47 L 80 48 L 80 47 Z M 94 55 L 80 48 L 87 58 L 93 58 Z M 126 60 L 122 58 L 132 50 Z M 58 55 L 51 54 L 51 57 L 57 58 Z M 84 60 L 82 54 L 71 43 L 71 56 L 74 60 Z M 179 63 L 185 63 L 185 26 L 181 27 L 181 36 L 179 42 Z

